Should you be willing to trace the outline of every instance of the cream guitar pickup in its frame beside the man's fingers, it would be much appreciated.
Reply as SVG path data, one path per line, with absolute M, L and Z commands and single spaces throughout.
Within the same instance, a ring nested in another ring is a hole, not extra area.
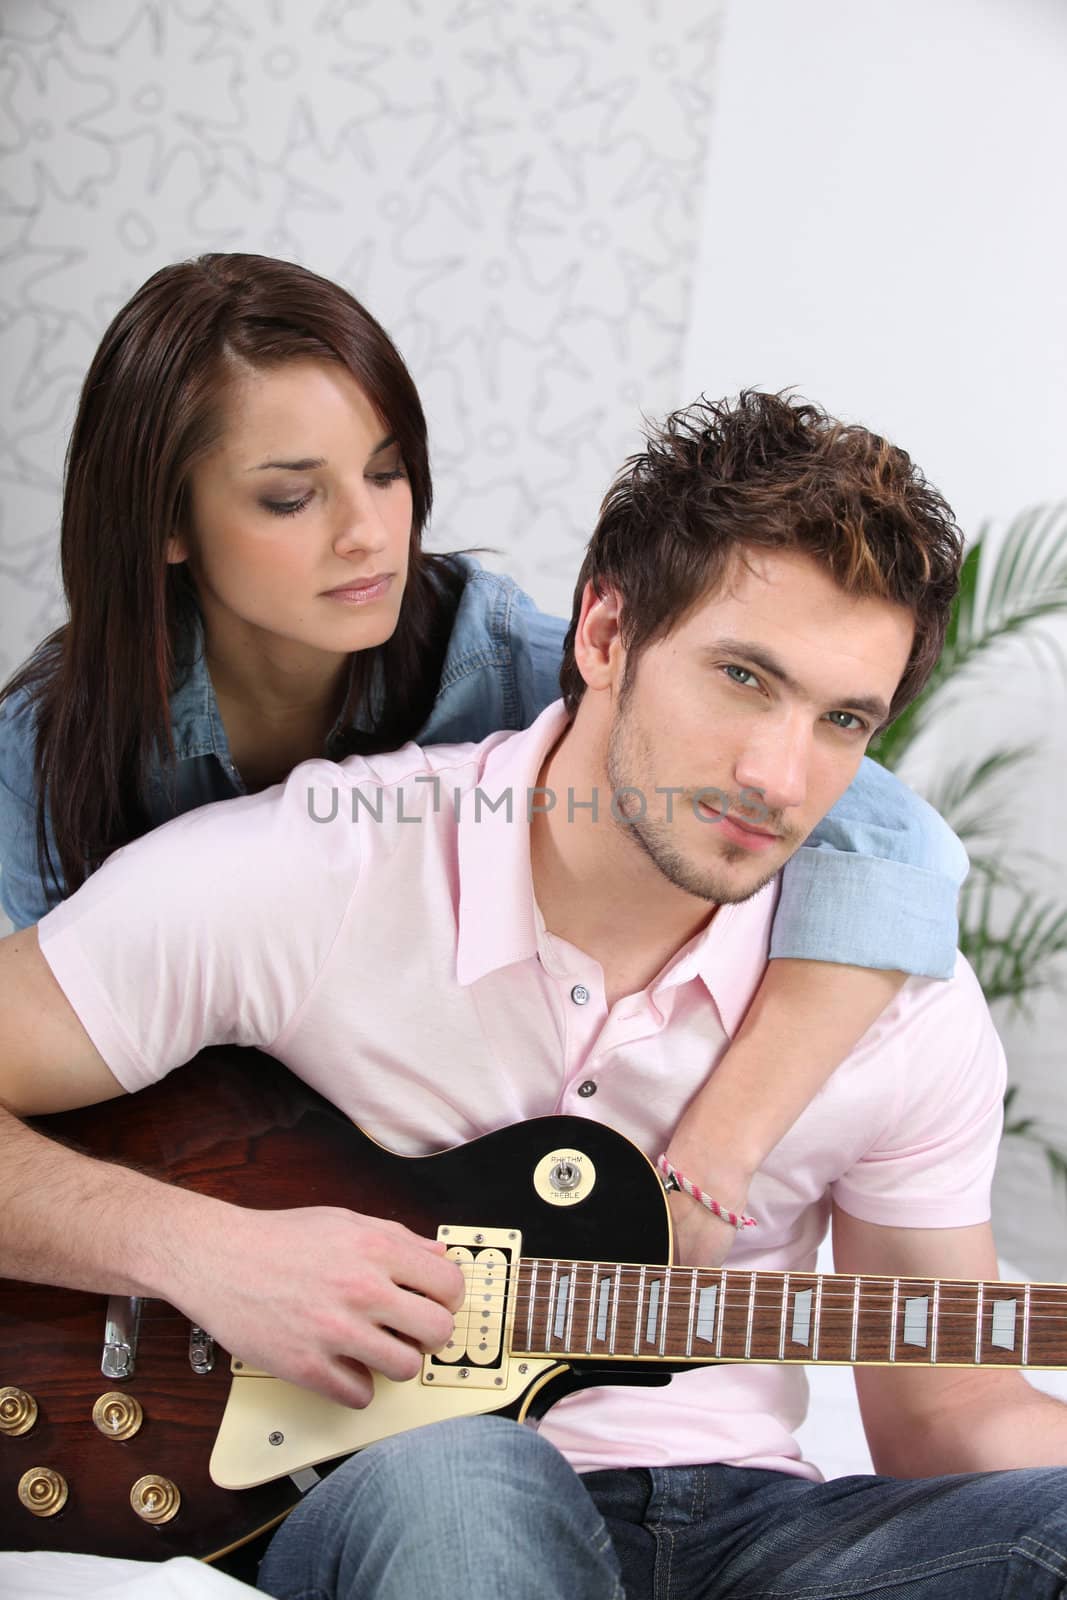
M 522 1234 L 506 1227 L 438 1227 L 467 1293 L 448 1344 L 422 1358 L 422 1382 L 438 1389 L 502 1389 L 515 1317 L 514 1266 Z

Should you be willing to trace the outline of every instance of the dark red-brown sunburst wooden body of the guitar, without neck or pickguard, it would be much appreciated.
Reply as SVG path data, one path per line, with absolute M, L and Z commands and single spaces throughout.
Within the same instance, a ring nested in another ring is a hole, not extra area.
M 395 1218 L 427 1237 L 435 1237 L 442 1221 L 522 1227 L 523 1248 L 544 1254 L 611 1254 L 617 1240 L 627 1259 L 665 1256 L 667 1213 L 640 1152 L 584 1118 L 542 1122 L 552 1125 L 555 1142 L 576 1123 L 600 1162 L 597 1190 L 577 1210 L 547 1205 L 530 1187 L 520 1195 L 517 1173 L 531 1165 L 523 1160 L 523 1146 L 528 1152 L 544 1146 L 536 1122 L 440 1155 L 397 1157 L 258 1051 L 205 1051 L 150 1090 L 42 1118 L 40 1126 L 94 1155 L 242 1205 L 349 1206 Z M 629 1176 L 619 1171 L 619 1155 L 633 1163 Z M 285 1272 L 283 1261 L 278 1270 Z M 29 1432 L 0 1430 L 0 1547 L 211 1558 L 280 1520 L 301 1498 L 282 1459 L 285 1446 L 275 1453 L 266 1445 L 267 1462 L 283 1474 L 277 1482 L 226 1490 L 210 1477 L 230 1395 L 230 1352 L 216 1347 L 211 1373 L 195 1373 L 187 1318 L 162 1301 L 147 1301 L 134 1374 L 109 1381 L 101 1374 L 106 1310 L 102 1294 L 0 1280 L 0 1390 L 22 1390 L 38 1406 Z M 542 1362 L 537 1373 L 547 1368 L 560 1363 Z M 667 1376 L 649 1373 L 648 1379 L 662 1382 Z M 593 1381 L 592 1373 L 584 1381 Z M 93 1406 L 107 1392 L 139 1400 L 144 1421 L 133 1437 L 107 1437 L 93 1422 Z M 314 1397 L 304 1398 L 315 1411 Z M 485 1402 L 475 1397 L 466 1406 L 499 1408 L 507 1410 L 507 1402 L 498 1395 Z M 347 1418 L 358 1422 L 360 1413 Z M 280 1430 L 259 1430 L 258 1438 Z M 35 1467 L 48 1467 L 67 1483 L 66 1504 L 54 1515 L 37 1517 L 19 1502 L 19 1482 Z M 146 1475 L 178 1485 L 181 1506 L 170 1522 L 147 1523 L 131 1509 L 130 1490 Z

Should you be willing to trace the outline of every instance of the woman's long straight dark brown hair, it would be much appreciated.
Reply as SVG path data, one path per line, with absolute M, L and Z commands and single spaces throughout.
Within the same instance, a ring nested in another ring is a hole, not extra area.
M 352 373 L 411 482 L 400 621 L 355 656 L 344 718 L 358 710 L 370 731 L 352 733 L 347 749 L 395 749 L 430 714 L 462 574 L 422 550 L 426 418 L 398 350 L 346 290 L 290 262 L 208 254 L 163 267 L 118 312 L 82 389 L 61 525 L 69 621 L 0 691 L 0 702 L 26 691 L 34 704 L 40 870 L 59 885 L 58 866 L 67 893 L 147 830 L 149 774 L 174 757 L 170 694 L 197 602 L 166 542 L 181 530 L 190 469 L 219 438 L 227 374 L 309 357 Z M 384 701 L 371 706 L 376 680 Z

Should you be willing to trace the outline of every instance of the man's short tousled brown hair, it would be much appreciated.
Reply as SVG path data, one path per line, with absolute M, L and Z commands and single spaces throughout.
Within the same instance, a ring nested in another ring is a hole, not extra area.
M 574 589 L 560 686 L 585 690 L 574 634 L 587 582 L 621 600 L 627 670 L 718 590 L 734 555 L 798 550 L 861 598 L 905 605 L 915 640 L 889 709 L 915 699 L 944 645 L 963 560 L 950 506 L 905 451 L 816 405 L 744 390 L 675 411 L 600 507 Z

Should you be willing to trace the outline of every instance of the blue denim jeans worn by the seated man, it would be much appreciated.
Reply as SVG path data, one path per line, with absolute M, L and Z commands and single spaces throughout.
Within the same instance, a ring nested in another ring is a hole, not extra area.
M 744 1467 L 577 1477 L 501 1418 L 373 1445 L 275 1534 L 278 1600 L 1053 1600 L 1067 1469 L 830 1483 Z

